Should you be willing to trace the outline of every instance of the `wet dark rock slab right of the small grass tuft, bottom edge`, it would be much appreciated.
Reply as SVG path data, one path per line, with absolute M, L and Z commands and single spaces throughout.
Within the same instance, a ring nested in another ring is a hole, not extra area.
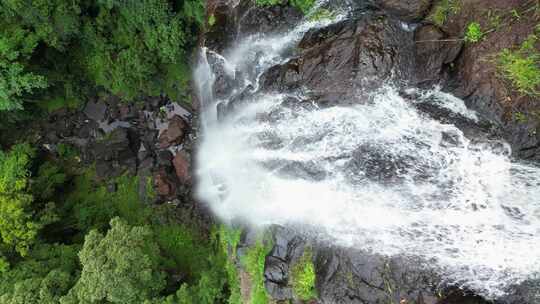
M 405 258 L 384 258 L 352 249 L 317 253 L 320 303 L 418 303 L 434 296 L 440 278 Z

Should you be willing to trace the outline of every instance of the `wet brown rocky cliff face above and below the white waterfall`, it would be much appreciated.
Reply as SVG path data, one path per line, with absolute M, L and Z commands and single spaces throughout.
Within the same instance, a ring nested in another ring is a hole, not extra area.
M 342 104 L 391 81 L 403 89 L 440 85 L 463 98 L 477 110 L 479 123 L 451 117 L 440 109 L 419 106 L 427 115 L 460 126 L 477 138 L 504 137 L 517 157 L 538 160 L 540 119 L 518 122 L 513 113 L 529 115 L 540 109 L 533 97 L 520 96 L 496 71 L 493 58 L 530 34 L 537 17 L 512 23 L 479 43 L 466 43 L 464 29 L 486 18 L 489 9 L 527 7 L 528 1 L 465 0 L 459 12 L 448 13 L 443 24 L 433 21 L 441 1 L 353 1 L 351 17 L 304 34 L 294 56 L 270 68 L 261 77 L 268 92 L 304 90 L 319 106 Z M 255 6 L 249 1 L 211 1 L 209 14 L 216 16 L 202 44 L 222 52 L 242 36 L 279 33 L 300 18 L 284 5 Z M 528 17 L 527 17 L 528 18 Z M 536 19 L 535 19 L 536 18 Z M 234 79 L 218 70 L 222 88 Z M 222 91 L 227 91 L 223 89 Z M 219 92 L 215 92 L 218 93 Z M 238 100 L 251 94 L 248 88 Z M 403 90 L 404 97 L 410 93 Z M 298 102 L 298 101 L 293 101 Z M 226 115 L 234 110 L 218 109 Z M 531 114 L 532 115 L 532 114 Z M 266 257 L 264 277 L 269 295 L 276 301 L 293 300 L 291 269 L 304 248 L 314 250 L 318 300 L 310 303 L 486 303 L 480 297 L 453 286 L 445 278 L 414 260 L 381 257 L 353 251 L 301 236 L 283 227 L 270 229 L 273 248 Z M 241 246 L 249 246 L 244 240 Z M 501 303 L 534 303 L 530 289 L 516 286 Z

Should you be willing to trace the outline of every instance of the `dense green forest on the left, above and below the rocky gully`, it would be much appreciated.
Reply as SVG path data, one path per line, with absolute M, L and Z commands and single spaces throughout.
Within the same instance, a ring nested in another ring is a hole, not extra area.
M 166 206 L 143 204 L 136 177 L 117 177 L 111 192 L 75 147 L 51 155 L 29 135 L 35 121 L 95 96 L 189 103 L 205 19 L 201 0 L 0 2 L 0 303 L 229 296 L 224 230 L 203 236 Z

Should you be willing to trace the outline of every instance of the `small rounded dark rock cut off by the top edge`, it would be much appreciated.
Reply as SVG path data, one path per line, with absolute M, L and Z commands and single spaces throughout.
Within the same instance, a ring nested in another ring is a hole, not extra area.
M 428 12 L 432 0 L 375 0 L 375 4 L 403 21 L 419 21 Z

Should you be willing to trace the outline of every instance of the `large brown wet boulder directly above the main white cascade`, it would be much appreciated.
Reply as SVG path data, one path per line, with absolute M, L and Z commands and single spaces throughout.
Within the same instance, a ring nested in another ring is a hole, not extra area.
M 352 102 L 385 81 L 411 78 L 412 36 L 399 21 L 376 14 L 310 30 L 298 57 L 269 69 L 261 83 L 267 90 L 307 87 L 321 103 Z

